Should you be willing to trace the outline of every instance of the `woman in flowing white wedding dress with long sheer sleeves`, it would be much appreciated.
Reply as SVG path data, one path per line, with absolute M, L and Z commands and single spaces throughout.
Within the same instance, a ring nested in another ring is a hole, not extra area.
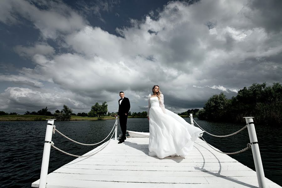
M 152 88 L 149 94 L 149 156 L 164 158 L 182 156 L 193 148 L 195 140 L 202 130 L 187 123 L 174 112 L 165 109 L 164 95 L 159 86 Z

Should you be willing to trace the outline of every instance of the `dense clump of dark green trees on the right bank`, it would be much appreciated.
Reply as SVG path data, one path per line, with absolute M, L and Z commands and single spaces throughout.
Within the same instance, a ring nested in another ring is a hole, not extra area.
M 259 124 L 282 124 L 282 85 L 253 83 L 238 91 L 237 96 L 227 99 L 223 93 L 210 97 L 198 118 L 208 121 L 243 123 L 243 117 L 254 117 Z

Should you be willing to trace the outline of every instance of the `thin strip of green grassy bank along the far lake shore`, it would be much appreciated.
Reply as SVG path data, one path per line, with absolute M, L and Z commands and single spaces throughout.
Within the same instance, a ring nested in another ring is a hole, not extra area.
M 188 118 L 189 116 L 182 116 L 182 118 Z M 147 116 L 128 116 L 128 118 L 147 118 Z M 0 121 L 46 121 L 46 119 L 55 119 L 54 116 L 39 116 L 39 115 L 6 115 L 0 116 Z M 105 119 L 116 119 L 111 116 L 104 116 Z M 91 120 L 96 121 L 97 117 L 81 117 L 81 116 L 71 116 L 70 121 L 80 121 L 80 120 Z

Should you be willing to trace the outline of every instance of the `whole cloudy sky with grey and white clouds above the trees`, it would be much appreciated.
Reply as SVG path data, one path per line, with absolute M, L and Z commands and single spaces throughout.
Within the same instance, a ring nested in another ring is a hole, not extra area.
M 202 108 L 213 94 L 282 81 L 280 0 L 1 0 L 0 111 Z

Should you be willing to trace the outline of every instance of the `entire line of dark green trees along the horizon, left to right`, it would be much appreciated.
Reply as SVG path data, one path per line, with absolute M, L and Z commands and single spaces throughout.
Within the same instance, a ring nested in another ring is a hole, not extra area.
M 24 115 L 43 115 L 55 116 L 57 121 L 68 121 L 71 116 L 81 117 L 97 117 L 98 120 L 104 116 L 114 117 L 118 112 L 108 112 L 107 102 L 100 105 L 96 102 L 91 110 L 86 112 L 72 113 L 72 109 L 63 105 L 63 109 L 56 110 L 54 114 L 48 111 L 47 107 L 42 108 L 38 112 L 26 111 Z M 238 91 L 237 96 L 227 99 L 224 93 L 213 95 L 204 104 L 203 109 L 190 109 L 186 112 L 178 113 L 178 115 L 189 116 L 192 113 L 194 117 L 207 121 L 225 121 L 243 123 L 243 117 L 255 117 L 255 123 L 271 124 L 282 123 L 282 85 L 273 83 L 272 86 L 266 86 L 266 83 L 244 87 Z M 18 115 L 16 112 L 6 113 L 0 111 L 0 116 Z M 147 112 L 129 112 L 128 116 L 133 118 L 147 117 Z

